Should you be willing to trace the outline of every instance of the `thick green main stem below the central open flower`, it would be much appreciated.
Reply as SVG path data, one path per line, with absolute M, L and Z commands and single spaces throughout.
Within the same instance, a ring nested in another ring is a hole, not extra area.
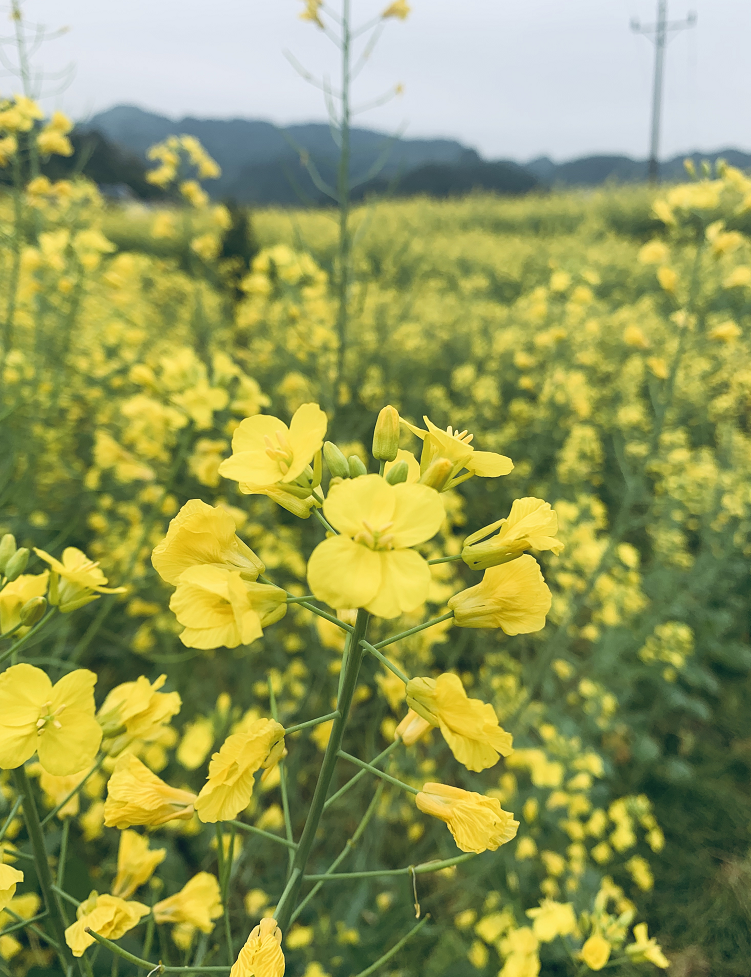
M 326 795 L 329 792 L 331 779 L 334 776 L 334 770 L 336 769 L 336 761 L 338 759 L 339 749 L 342 745 L 342 738 L 347 725 L 349 710 L 352 705 L 352 696 L 354 695 L 355 686 L 357 685 L 357 677 L 360 674 L 360 664 L 362 662 L 364 653 L 360 642 L 365 637 L 365 632 L 368 628 L 368 618 L 369 615 L 367 611 L 360 609 L 357 612 L 354 631 L 349 636 L 349 640 L 347 642 L 349 654 L 347 655 L 345 674 L 336 703 L 336 709 L 339 715 L 334 720 L 334 724 L 331 727 L 331 735 L 329 737 L 326 752 L 323 756 L 323 763 L 321 764 L 321 769 L 318 774 L 318 781 L 316 783 L 315 792 L 313 793 L 313 800 L 310 805 L 310 810 L 308 811 L 308 816 L 305 820 L 305 827 L 303 828 L 302 835 L 297 844 L 295 860 L 292 864 L 292 874 L 290 876 L 290 879 L 294 879 L 295 881 L 294 884 L 288 885 L 282 898 L 279 900 L 279 905 L 277 906 L 276 910 L 277 922 L 279 923 L 279 927 L 282 932 L 287 929 L 290 916 L 295 908 L 295 902 L 300 892 L 300 885 L 302 884 L 302 876 L 305 871 L 305 866 L 308 863 L 308 858 L 310 857 L 310 851 L 313 847 L 313 842 L 315 841 L 318 825 L 320 823 L 321 816 L 323 815 L 323 806 L 326 803 Z

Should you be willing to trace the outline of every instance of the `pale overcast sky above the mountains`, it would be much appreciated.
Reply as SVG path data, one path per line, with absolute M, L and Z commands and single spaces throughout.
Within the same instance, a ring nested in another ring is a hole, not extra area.
M 339 7 L 340 0 L 329 0 Z M 387 0 L 351 0 L 366 20 Z M 656 0 L 410 0 L 390 20 L 357 82 L 359 117 L 410 136 L 449 136 L 489 158 L 645 156 L 654 48 L 629 27 Z M 321 93 L 290 66 L 336 77 L 337 52 L 299 20 L 301 0 L 25 0 L 30 21 L 69 32 L 42 48 L 49 70 L 76 74 L 47 106 L 77 118 L 119 103 L 169 115 L 278 123 L 325 118 Z M 751 0 L 671 0 L 698 24 L 667 51 L 662 155 L 751 149 Z M 9 24 L 10 29 L 10 24 Z M 5 90 L 15 89 L 11 80 Z

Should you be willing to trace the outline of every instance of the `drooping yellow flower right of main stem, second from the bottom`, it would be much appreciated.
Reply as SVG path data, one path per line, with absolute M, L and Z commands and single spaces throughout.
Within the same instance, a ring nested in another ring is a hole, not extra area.
M 407 705 L 440 727 L 451 752 L 468 770 L 485 770 L 498 762 L 499 754 L 511 753 L 511 734 L 498 725 L 495 709 L 469 699 L 458 675 L 413 678 L 407 685 Z

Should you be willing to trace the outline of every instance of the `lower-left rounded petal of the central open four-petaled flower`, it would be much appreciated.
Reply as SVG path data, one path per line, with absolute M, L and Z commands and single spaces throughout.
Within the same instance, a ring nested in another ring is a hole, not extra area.
M 348 536 L 332 536 L 313 550 L 308 583 L 316 597 L 331 607 L 365 607 L 381 586 L 380 556 Z

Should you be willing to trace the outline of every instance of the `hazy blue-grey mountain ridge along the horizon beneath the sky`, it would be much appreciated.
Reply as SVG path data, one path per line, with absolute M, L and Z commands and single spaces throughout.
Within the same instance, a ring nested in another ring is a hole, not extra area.
M 325 123 L 281 127 L 241 118 L 187 116 L 175 120 L 136 106 L 117 105 L 81 123 L 78 130 L 98 132 L 116 148 L 144 163 L 146 151 L 153 143 L 171 134 L 196 136 L 222 168 L 222 176 L 207 183 L 207 189 L 217 199 L 284 205 L 298 204 L 303 199 L 320 204 L 325 195 L 302 165 L 301 150 L 309 155 L 329 185 L 336 183 L 338 150 Z M 636 183 L 643 181 L 647 172 L 645 160 L 616 155 L 588 156 L 560 163 L 547 157 L 525 164 L 489 161 L 455 139 L 391 137 L 361 128 L 352 130 L 351 156 L 350 178 L 359 183 L 355 197 L 368 192 L 450 196 L 475 188 L 519 194 L 540 186 L 598 186 L 608 180 Z M 384 159 L 383 168 L 370 178 L 379 157 Z M 697 163 L 718 157 L 742 169 L 751 167 L 751 154 L 735 149 L 692 154 Z M 661 166 L 662 177 L 681 179 L 685 173 L 684 159 L 680 155 L 665 161 Z M 130 180 L 123 182 L 132 185 Z

